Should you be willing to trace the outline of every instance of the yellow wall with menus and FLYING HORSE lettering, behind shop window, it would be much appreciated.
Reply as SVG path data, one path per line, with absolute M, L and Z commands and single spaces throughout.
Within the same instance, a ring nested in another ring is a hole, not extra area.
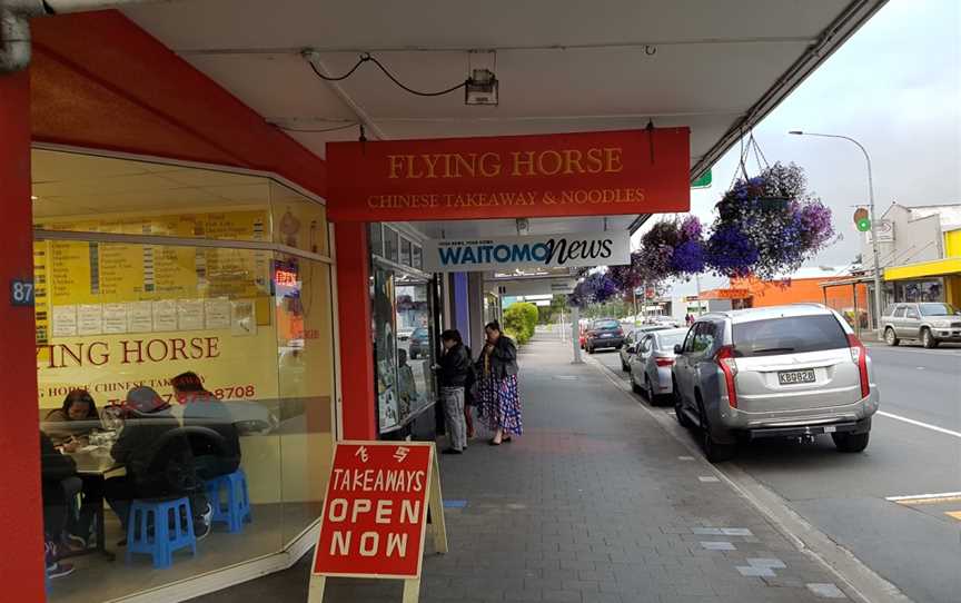
M 266 211 L 37 224 L 47 230 L 266 240 Z M 270 325 L 273 254 L 250 249 L 37 240 L 37 368 L 41 407 L 73 387 L 98 403 L 136 385 L 162 395 L 196 370 L 225 399 L 277 396 Z M 242 368 L 238 368 L 242 367 Z

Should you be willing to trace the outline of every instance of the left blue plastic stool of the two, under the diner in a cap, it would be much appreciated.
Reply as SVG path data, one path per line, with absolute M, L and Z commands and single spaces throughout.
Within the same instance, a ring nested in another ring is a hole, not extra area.
M 147 553 L 153 556 L 153 567 L 167 569 L 174 563 L 174 552 L 186 546 L 197 554 L 188 498 L 133 501 L 127 522 L 127 563 L 133 553 Z

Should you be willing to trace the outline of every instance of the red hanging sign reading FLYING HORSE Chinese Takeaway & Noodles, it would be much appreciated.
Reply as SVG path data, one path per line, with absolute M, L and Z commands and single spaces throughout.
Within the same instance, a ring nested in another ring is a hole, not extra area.
M 691 208 L 690 130 L 327 144 L 334 221 L 608 216 Z

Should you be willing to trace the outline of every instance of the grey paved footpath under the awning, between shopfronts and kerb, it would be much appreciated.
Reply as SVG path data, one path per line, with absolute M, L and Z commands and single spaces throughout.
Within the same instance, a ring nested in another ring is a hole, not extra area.
M 521 355 L 525 435 L 442 457 L 450 552 L 422 601 L 805 602 L 853 593 L 569 344 Z M 309 557 L 309 556 L 308 556 Z M 309 558 L 195 601 L 307 601 Z M 846 593 L 846 594 L 845 594 Z M 395 581 L 328 581 L 325 602 L 397 601 Z

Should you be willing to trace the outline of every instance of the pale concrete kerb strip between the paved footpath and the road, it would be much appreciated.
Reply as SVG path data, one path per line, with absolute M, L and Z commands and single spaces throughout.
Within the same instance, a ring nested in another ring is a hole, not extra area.
M 594 369 L 606 377 L 627 399 L 637 404 L 638 401 L 631 392 L 630 386 L 616 379 L 612 372 L 596 358 L 588 356 L 586 364 L 593 365 Z M 668 421 L 666 416 L 657 416 L 646 404 L 637 405 L 682 446 L 695 454 L 700 452 L 690 437 L 681 437 L 665 425 L 664 422 Z M 761 484 L 744 469 L 729 464 L 727 472 L 734 474 L 732 477 L 729 473 L 721 472 L 707 464 L 703 457 L 702 463 L 717 473 L 730 487 L 761 512 L 770 524 L 794 544 L 799 551 L 834 574 L 851 591 L 855 600 L 862 603 L 913 603 L 898 586 L 882 577 L 828 534 L 821 532 L 800 513 L 791 508 L 777 493 Z M 820 585 L 820 583 L 816 584 Z M 836 589 L 834 584 L 830 584 L 830 586 Z M 818 594 L 813 590 L 812 592 Z M 841 594 L 842 597 L 846 599 L 845 593 L 842 592 Z

